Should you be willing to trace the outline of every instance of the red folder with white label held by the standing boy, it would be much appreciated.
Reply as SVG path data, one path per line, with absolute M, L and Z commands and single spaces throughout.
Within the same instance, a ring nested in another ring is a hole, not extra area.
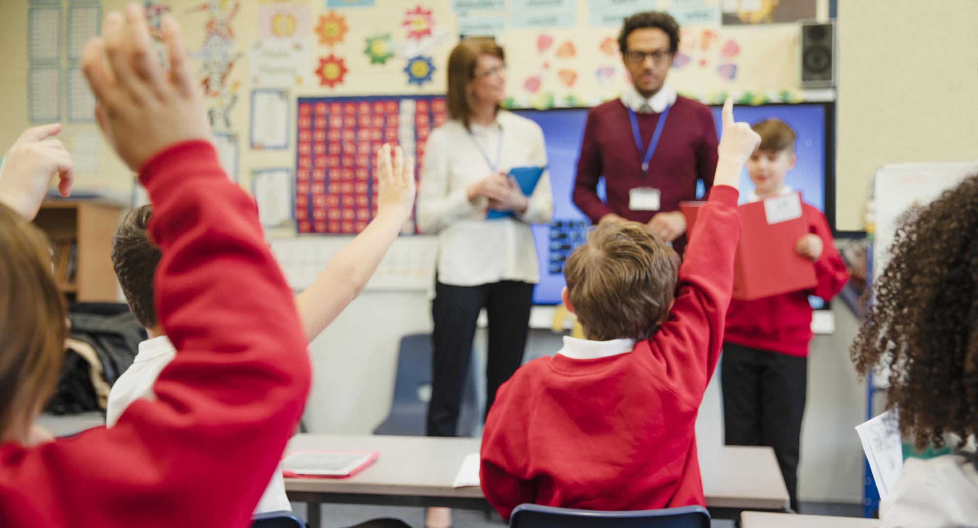
M 690 240 L 696 236 L 693 226 L 703 203 L 684 201 L 679 205 L 686 216 Z M 740 242 L 733 261 L 734 299 L 754 300 L 818 284 L 815 265 L 795 253 L 798 239 L 808 234 L 800 194 L 745 203 L 737 212 Z

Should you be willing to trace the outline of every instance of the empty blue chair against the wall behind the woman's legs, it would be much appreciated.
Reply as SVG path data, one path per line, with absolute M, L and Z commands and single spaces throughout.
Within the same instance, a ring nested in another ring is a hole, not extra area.
M 374 434 L 426 434 L 428 404 L 422 394 L 430 394 L 431 355 L 430 333 L 413 333 L 401 338 L 394 379 L 394 401 L 390 404 L 390 414 L 374 429 Z M 475 395 L 474 361 L 470 365 L 462 389 L 462 403 L 456 426 L 458 436 L 470 436 L 481 419 Z

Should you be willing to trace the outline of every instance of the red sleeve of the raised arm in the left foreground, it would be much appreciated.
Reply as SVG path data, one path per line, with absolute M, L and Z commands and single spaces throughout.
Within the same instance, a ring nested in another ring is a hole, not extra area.
M 306 342 L 254 202 L 203 141 L 156 155 L 141 180 L 176 358 L 156 400 L 113 428 L 0 446 L 5 526 L 246 526 L 300 417 Z

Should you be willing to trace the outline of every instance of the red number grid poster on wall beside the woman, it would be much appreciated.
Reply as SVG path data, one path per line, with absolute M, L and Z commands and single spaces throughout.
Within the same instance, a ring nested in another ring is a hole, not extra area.
M 353 235 L 377 215 L 375 164 L 384 143 L 414 155 L 447 118 L 443 97 L 299 98 L 295 223 L 299 233 Z M 414 234 L 414 216 L 406 233 Z

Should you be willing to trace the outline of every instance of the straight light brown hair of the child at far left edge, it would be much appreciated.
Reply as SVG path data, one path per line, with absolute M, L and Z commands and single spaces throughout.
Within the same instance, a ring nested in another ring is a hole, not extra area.
M 48 251 L 37 227 L 0 204 L 0 437 L 47 402 L 65 355 L 65 300 Z

